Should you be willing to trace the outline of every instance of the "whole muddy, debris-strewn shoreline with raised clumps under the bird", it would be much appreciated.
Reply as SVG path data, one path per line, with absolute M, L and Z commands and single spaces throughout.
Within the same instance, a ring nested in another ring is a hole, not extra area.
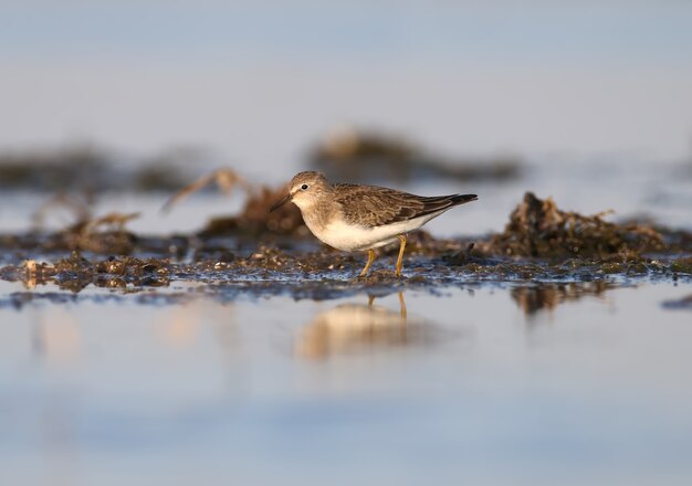
M 261 200 L 272 198 L 262 194 Z M 690 233 L 563 211 L 533 193 L 526 193 L 501 233 L 452 240 L 412 233 L 402 278 L 394 275 L 397 249 L 381 251 L 370 274 L 357 277 L 364 255 L 321 244 L 294 210 L 269 215 L 258 204 L 250 201 L 226 226 L 212 221 L 197 234 L 136 235 L 126 230 L 128 215 L 113 215 L 54 233 L 0 235 L 0 279 L 21 282 L 31 290 L 159 293 L 161 302 L 186 299 L 190 293 L 222 302 L 276 295 L 323 300 L 505 284 L 577 285 L 579 294 L 579 286 L 590 283 L 692 281 Z M 239 224 L 249 215 L 253 224 Z M 274 218 L 287 218 L 291 224 Z M 193 289 L 180 293 L 174 288 L 180 283 Z M 10 296 L 4 304 L 32 299 Z

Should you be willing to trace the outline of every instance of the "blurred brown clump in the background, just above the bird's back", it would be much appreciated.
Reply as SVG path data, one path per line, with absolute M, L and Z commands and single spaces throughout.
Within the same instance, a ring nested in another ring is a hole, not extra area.
M 402 138 L 348 128 L 311 150 L 313 168 L 348 181 L 412 179 L 508 180 L 520 176 L 515 157 L 451 159 Z

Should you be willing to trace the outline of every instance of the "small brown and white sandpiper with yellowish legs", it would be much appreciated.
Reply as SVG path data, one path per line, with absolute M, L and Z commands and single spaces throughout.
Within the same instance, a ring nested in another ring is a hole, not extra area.
M 426 198 L 377 186 L 331 183 L 324 175 L 306 171 L 295 175 L 289 193 L 270 212 L 292 201 L 310 231 L 324 243 L 346 252 L 367 250 L 361 277 L 375 261 L 375 249 L 399 240 L 396 276 L 401 276 L 407 233 L 476 199 L 475 194 Z

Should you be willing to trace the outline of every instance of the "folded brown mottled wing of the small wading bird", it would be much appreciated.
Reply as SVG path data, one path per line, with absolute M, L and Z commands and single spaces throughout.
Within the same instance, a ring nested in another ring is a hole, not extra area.
M 424 198 L 376 186 L 337 184 L 336 202 L 352 224 L 380 226 L 441 212 L 473 201 L 475 194 Z

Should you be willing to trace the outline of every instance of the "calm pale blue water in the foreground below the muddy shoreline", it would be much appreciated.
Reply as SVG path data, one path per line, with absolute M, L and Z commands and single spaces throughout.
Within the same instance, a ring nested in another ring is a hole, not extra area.
M 198 287 L 0 308 L 3 483 L 692 479 L 692 327 L 665 304 L 689 285 L 470 284 L 403 307 Z

